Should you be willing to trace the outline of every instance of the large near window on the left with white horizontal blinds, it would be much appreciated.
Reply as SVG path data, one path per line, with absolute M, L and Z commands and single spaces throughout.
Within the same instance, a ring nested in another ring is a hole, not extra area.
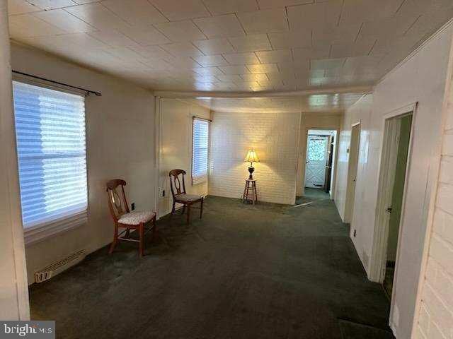
M 25 242 L 86 222 L 84 97 L 13 81 Z

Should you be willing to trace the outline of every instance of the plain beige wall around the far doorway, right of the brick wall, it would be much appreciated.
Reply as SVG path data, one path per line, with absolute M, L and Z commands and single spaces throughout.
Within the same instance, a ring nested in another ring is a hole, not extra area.
M 305 189 L 305 161 L 306 161 L 306 138 L 309 129 L 335 129 L 339 131 L 343 114 L 303 113 L 299 131 L 299 155 L 297 160 L 296 195 L 304 195 Z M 338 145 L 337 141 L 335 143 Z M 334 160 L 336 160 L 334 158 Z M 334 163 L 333 179 L 336 169 Z M 335 182 L 332 184 L 335 186 Z

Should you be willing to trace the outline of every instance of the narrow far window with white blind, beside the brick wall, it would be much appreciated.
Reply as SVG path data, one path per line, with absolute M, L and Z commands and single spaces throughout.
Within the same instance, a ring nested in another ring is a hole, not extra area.
M 209 146 L 209 121 L 193 119 L 192 141 L 192 184 L 207 181 L 207 160 Z

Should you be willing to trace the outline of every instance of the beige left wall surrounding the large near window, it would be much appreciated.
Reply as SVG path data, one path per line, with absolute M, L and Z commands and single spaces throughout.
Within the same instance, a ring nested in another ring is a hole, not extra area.
M 13 45 L 13 69 L 83 88 L 101 97 L 86 98 L 88 223 L 26 248 L 28 280 L 35 270 L 80 249 L 88 252 L 112 241 L 105 182 L 127 182 L 127 197 L 137 210 L 154 209 L 154 96 L 148 90 Z M 11 126 L 10 126 L 11 128 Z

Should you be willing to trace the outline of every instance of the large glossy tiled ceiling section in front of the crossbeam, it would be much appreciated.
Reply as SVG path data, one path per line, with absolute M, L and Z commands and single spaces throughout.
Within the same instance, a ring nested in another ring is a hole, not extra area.
M 8 0 L 13 40 L 154 90 L 372 85 L 452 0 Z

